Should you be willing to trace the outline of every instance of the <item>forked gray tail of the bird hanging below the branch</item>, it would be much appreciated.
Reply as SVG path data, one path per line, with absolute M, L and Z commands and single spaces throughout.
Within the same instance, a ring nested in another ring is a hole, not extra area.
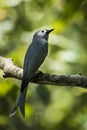
M 23 90 L 23 92 L 20 92 L 20 94 L 15 102 L 15 105 L 14 105 L 13 109 L 11 110 L 10 117 L 12 117 L 16 113 L 18 107 L 20 108 L 22 115 L 25 117 L 26 92 L 27 92 L 27 87 Z

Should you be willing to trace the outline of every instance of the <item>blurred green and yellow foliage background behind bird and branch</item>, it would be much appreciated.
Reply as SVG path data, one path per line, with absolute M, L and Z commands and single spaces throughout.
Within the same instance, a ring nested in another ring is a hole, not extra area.
M 54 28 L 40 70 L 87 75 L 87 0 L 0 0 L 0 55 L 22 67 L 34 32 Z M 21 81 L 0 70 L 0 130 L 87 130 L 87 90 L 30 83 L 26 118 L 9 118 Z

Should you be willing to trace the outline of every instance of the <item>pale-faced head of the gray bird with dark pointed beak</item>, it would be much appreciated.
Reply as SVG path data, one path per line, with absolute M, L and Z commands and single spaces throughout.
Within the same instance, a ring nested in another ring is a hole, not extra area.
M 53 31 L 54 29 L 43 29 L 43 30 L 39 30 L 37 31 L 35 34 L 34 34 L 34 37 L 37 37 L 37 38 L 43 38 L 45 40 L 48 40 L 48 36 L 49 34 Z

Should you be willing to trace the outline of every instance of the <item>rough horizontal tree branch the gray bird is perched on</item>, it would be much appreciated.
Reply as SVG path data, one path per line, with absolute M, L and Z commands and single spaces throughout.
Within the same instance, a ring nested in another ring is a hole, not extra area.
M 23 69 L 14 65 L 12 59 L 0 56 L 0 69 L 3 70 L 4 78 L 12 77 L 22 80 Z M 78 86 L 87 88 L 87 77 L 76 75 L 51 75 L 37 72 L 30 80 L 37 84 L 49 84 L 58 86 Z

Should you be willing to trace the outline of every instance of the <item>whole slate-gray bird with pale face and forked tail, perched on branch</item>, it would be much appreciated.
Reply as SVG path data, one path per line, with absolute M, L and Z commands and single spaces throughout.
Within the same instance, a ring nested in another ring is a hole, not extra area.
M 48 37 L 49 33 L 53 30 L 54 29 L 39 30 L 33 36 L 32 42 L 25 54 L 20 93 L 11 111 L 10 117 L 16 113 L 18 107 L 20 108 L 22 115 L 25 117 L 25 99 L 28 84 L 48 54 Z

